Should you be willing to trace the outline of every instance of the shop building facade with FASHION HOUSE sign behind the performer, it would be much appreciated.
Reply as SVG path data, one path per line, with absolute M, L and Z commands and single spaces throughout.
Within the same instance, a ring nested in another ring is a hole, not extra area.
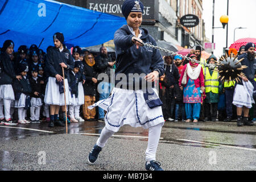
M 93 11 L 122 16 L 124 0 L 58 0 L 70 5 Z M 202 0 L 141 0 L 144 5 L 142 27 L 147 28 L 156 41 L 166 40 L 177 46 L 203 47 L 205 41 Z M 187 28 L 180 18 L 187 14 L 196 15 L 199 24 Z

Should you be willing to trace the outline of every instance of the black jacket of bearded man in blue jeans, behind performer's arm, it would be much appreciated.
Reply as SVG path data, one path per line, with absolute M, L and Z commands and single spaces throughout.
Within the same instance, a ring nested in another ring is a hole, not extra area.
M 113 67 L 110 67 L 108 62 L 114 62 L 110 55 L 100 54 L 95 57 L 95 68 L 98 73 L 106 73 L 109 77 L 109 80 L 104 80 L 110 82 L 110 70 Z

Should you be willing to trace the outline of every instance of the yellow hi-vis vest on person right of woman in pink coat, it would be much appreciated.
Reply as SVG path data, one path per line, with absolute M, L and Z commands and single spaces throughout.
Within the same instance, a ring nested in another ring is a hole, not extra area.
M 212 76 L 210 76 L 209 68 L 205 67 L 203 69 L 205 76 L 204 76 L 204 87 L 205 93 L 212 92 L 218 94 L 218 72 L 213 72 Z

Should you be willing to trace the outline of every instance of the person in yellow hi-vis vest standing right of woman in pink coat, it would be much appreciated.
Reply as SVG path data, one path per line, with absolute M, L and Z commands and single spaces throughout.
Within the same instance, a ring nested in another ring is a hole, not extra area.
M 211 55 L 207 60 L 207 63 L 216 67 L 217 58 Z M 221 89 L 221 84 L 218 79 L 218 72 L 213 71 L 214 68 L 204 67 L 204 78 L 205 78 L 205 121 L 217 121 L 217 110 L 218 110 L 218 93 Z

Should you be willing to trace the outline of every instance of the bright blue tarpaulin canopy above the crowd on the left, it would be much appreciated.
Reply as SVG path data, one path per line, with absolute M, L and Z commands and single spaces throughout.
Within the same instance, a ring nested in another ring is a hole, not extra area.
M 125 18 L 56 1 L 0 0 L 0 47 L 5 40 L 19 46 L 53 46 L 53 34 L 62 32 L 67 47 L 89 47 L 108 42 L 126 24 Z

